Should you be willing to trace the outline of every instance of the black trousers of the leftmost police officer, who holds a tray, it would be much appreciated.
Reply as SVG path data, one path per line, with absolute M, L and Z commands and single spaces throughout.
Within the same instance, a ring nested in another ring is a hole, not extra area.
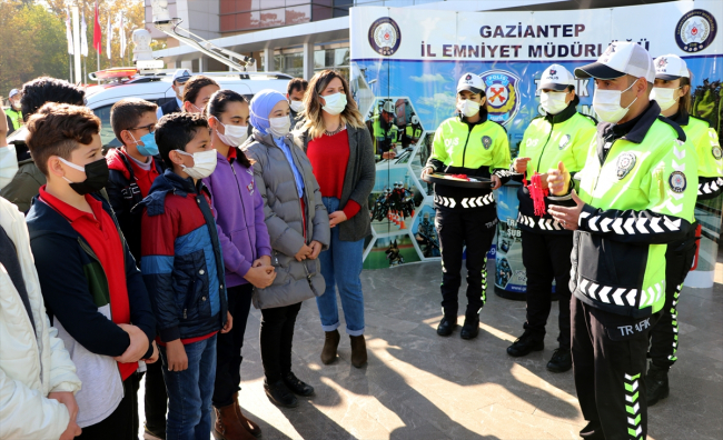
M 454 211 L 437 209 L 435 226 L 442 252 L 442 310 L 456 319 L 462 284 L 462 254 L 467 253 L 467 310 L 474 318 L 487 300 L 487 252 L 496 232 L 496 219 L 487 209 Z

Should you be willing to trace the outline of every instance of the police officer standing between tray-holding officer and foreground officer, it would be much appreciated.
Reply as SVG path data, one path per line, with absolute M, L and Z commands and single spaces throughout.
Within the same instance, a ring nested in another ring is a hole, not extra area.
M 580 98 L 575 94 L 575 78 L 559 64 L 552 64 L 542 74 L 537 84 L 539 102 L 544 116 L 532 120 L 525 130 L 519 146 L 519 157 L 513 170 L 526 174 L 529 181 L 535 173 L 544 189 L 547 188 L 546 172 L 563 162 L 571 174 L 583 169 L 587 148 L 595 138 L 596 122 L 593 118 L 577 112 Z M 535 181 L 536 182 L 536 181 Z M 535 183 L 533 182 L 533 183 Z M 543 189 L 543 188 L 541 188 Z M 545 324 L 552 307 L 552 282 L 559 297 L 559 348 L 557 348 L 547 369 L 563 372 L 572 368 L 570 353 L 570 253 L 573 250 L 573 234 L 553 220 L 548 212 L 535 213 L 529 187 L 519 187 L 519 214 L 517 226 L 522 230 L 522 259 L 527 272 L 527 320 L 525 332 L 507 353 L 514 357 L 526 356 L 544 349 Z M 572 196 L 563 198 L 541 198 L 549 203 L 574 206 Z

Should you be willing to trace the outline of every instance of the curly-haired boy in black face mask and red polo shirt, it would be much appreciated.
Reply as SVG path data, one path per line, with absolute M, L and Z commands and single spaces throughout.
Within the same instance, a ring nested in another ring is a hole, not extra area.
M 90 109 L 47 103 L 28 120 L 27 143 L 47 184 L 28 212 L 48 314 L 82 382 L 83 439 L 138 438 L 138 361 L 153 362 L 148 292 L 112 209 L 100 120 Z M 132 322 L 132 324 L 130 324 Z

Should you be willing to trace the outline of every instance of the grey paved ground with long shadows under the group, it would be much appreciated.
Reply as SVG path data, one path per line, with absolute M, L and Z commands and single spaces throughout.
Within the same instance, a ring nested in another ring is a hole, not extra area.
M 343 336 L 339 359 L 321 364 L 324 333 L 316 303 L 307 301 L 296 327 L 294 371 L 316 388 L 316 396 L 297 409 L 280 410 L 264 394 L 260 313 L 251 312 L 240 401 L 261 426 L 264 439 L 578 438 L 585 423 L 572 371 L 545 369 L 555 336 L 548 334 L 543 352 L 527 358 L 505 352 L 521 334 L 524 302 L 489 292 L 479 337 L 465 341 L 456 331 L 443 339 L 435 333 L 442 318 L 439 263 L 365 271 L 361 280 L 369 363 L 351 367 Z M 717 281 L 714 289 L 683 290 L 680 360 L 671 371 L 671 397 L 650 410 L 648 438 L 721 438 L 723 280 Z M 553 313 L 549 321 L 556 322 Z

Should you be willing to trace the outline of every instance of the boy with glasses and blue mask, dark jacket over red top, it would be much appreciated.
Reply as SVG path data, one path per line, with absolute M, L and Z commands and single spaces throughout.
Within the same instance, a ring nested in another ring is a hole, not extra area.
M 155 103 L 138 98 L 122 99 L 110 109 L 110 124 L 122 147 L 106 154 L 110 169 L 106 190 L 138 267 L 142 212 L 131 212 L 131 209 L 148 196 L 153 180 L 164 172 L 153 137 L 157 109 Z M 166 438 L 167 401 L 160 362 L 149 363 L 146 366 L 146 437 Z

